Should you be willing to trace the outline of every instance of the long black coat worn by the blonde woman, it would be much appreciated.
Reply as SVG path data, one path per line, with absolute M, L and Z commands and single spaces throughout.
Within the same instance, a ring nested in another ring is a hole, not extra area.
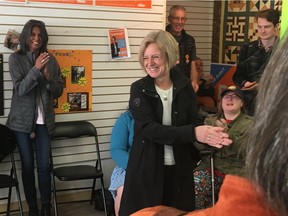
M 176 162 L 177 194 L 174 207 L 194 209 L 193 168 L 198 151 L 193 147 L 196 96 L 191 82 L 181 72 L 171 70 L 173 81 L 172 126 L 162 125 L 163 107 L 154 86 L 146 76 L 131 86 L 130 109 L 135 119 L 134 140 L 129 156 L 120 215 L 162 204 L 164 145 L 173 146 Z

